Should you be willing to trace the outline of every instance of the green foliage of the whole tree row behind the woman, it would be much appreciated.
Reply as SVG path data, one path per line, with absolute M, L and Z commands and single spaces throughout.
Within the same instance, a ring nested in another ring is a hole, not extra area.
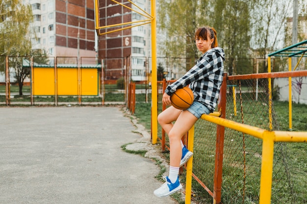
M 217 31 L 219 46 L 225 50 L 225 71 L 230 75 L 250 73 L 251 67 L 238 66 L 240 59 L 266 59 L 271 51 L 291 45 L 292 28 L 286 30 L 285 26 L 287 16 L 292 16 L 291 4 L 292 1 L 280 0 L 161 0 L 157 26 L 166 31 L 167 37 L 158 43 L 164 48 L 164 55 L 185 57 L 188 70 L 199 57 L 194 45 L 195 29 L 212 26 Z M 299 16 L 304 19 L 306 15 L 307 3 L 299 0 Z M 299 23 L 299 39 L 305 35 L 304 25 Z M 276 64 L 275 70 L 283 69 L 283 65 Z M 267 72 L 264 64 L 259 69 Z

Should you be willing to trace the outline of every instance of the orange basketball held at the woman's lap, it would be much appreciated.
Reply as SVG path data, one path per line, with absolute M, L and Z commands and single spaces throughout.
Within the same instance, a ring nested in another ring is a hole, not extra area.
M 172 106 L 180 110 L 189 108 L 192 105 L 193 100 L 193 91 L 188 87 L 178 89 L 171 95 Z

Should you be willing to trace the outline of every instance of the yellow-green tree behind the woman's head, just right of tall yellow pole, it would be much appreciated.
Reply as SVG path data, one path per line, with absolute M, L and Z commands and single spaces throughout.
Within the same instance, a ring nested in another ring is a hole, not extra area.
M 207 0 L 161 0 L 158 25 L 166 32 L 164 52 L 170 57 L 185 57 L 188 70 L 195 65 L 198 51 L 195 47 L 195 30 L 204 26 Z

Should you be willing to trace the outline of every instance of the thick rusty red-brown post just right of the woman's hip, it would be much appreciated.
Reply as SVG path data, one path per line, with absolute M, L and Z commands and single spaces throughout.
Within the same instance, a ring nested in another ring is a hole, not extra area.
M 227 74 L 224 73 L 223 82 L 222 82 L 220 95 L 219 95 L 219 103 L 218 103 L 218 111 L 221 112 L 222 118 L 225 118 L 226 116 L 226 93 L 227 93 Z M 225 127 L 221 125 L 217 125 L 214 184 L 213 184 L 213 204 L 221 203 L 224 134 L 225 134 Z

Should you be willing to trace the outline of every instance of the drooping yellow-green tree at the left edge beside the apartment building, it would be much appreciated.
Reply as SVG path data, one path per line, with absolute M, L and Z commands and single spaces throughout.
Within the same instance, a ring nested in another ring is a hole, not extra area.
M 25 5 L 22 0 L 2 0 L 0 3 L 0 55 L 9 55 L 9 67 L 14 69 L 14 77 L 19 85 L 19 94 L 26 77 L 29 76 L 30 56 L 36 57 L 36 62 L 47 62 L 43 50 L 31 50 L 31 26 L 33 21 L 31 5 Z M 14 56 L 14 57 L 13 57 Z M 0 62 L 0 71 L 4 71 L 4 62 Z

